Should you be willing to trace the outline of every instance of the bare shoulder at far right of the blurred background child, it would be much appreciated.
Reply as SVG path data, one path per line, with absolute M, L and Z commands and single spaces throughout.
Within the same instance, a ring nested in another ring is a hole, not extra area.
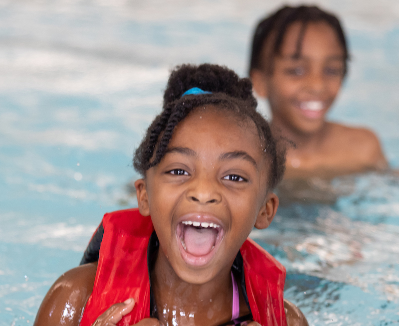
M 385 169 L 387 160 L 376 134 L 367 128 L 329 123 L 334 139 L 341 149 L 365 168 Z

